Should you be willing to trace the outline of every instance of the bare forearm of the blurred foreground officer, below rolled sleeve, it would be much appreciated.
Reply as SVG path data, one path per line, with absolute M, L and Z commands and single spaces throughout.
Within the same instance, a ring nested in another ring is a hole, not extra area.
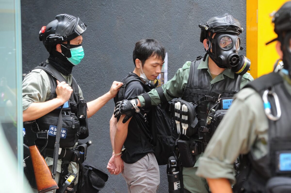
M 232 193 L 231 185 L 226 178 L 207 178 L 212 193 Z

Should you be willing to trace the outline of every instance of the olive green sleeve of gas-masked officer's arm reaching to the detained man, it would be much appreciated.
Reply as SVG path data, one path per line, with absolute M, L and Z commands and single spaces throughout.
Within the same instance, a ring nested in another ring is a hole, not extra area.
M 182 96 L 185 86 L 188 81 L 189 72 L 190 72 L 190 61 L 187 61 L 182 68 L 179 68 L 174 77 L 162 85 L 164 90 L 164 95 L 168 101 L 173 98 L 179 98 Z M 152 89 L 149 93 L 152 105 L 158 105 L 161 103 L 159 94 L 156 89 Z M 138 96 L 138 99 L 141 103 L 141 107 L 145 106 L 145 100 L 143 96 Z

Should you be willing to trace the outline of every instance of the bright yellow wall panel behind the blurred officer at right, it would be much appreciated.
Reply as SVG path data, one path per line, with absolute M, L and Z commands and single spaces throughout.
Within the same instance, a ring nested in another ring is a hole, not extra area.
M 250 73 L 254 78 L 272 72 L 274 63 L 279 59 L 276 42 L 267 46 L 265 43 L 277 37 L 270 14 L 285 2 L 286 0 L 246 1 L 246 56 L 251 60 Z

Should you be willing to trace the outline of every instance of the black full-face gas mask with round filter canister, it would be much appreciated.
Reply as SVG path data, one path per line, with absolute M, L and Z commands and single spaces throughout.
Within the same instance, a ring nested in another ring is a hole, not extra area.
M 249 70 L 251 61 L 237 54 L 242 49 L 237 34 L 216 33 L 213 38 L 208 38 L 212 44 L 209 45 L 207 54 L 219 68 L 229 68 L 239 75 L 244 75 Z

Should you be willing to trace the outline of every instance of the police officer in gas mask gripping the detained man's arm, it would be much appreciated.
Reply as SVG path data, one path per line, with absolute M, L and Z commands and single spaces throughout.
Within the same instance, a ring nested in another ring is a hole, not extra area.
M 206 24 L 200 24 L 199 27 L 201 28 L 200 42 L 204 45 L 205 56 L 186 62 L 174 77 L 162 86 L 164 97 L 160 98 L 156 89 L 150 91 L 148 96 L 152 105 L 163 104 L 165 101 L 181 97 L 184 101 L 181 107 L 185 104 L 193 107 L 194 112 L 189 113 L 190 106 L 186 105 L 188 109 L 186 112 L 182 112 L 185 111 L 184 107 L 182 109 L 175 106 L 175 120 L 178 132 L 181 132 L 182 144 L 178 146 L 183 165 L 184 192 L 203 193 L 209 192 L 206 179 L 196 176 L 195 173 L 201 164 L 200 156 L 203 155 L 215 130 L 212 127 L 213 124 L 210 124 L 211 121 L 208 122 L 212 118 L 210 114 L 223 109 L 222 105 L 220 106 L 223 98 L 227 98 L 226 100 L 230 103 L 233 95 L 252 81 L 253 77 L 247 73 L 250 67 L 249 59 L 238 55 L 241 49 L 239 34 L 242 33 L 243 28 L 237 19 L 224 14 L 212 17 Z M 146 98 L 148 97 L 142 95 L 138 96 L 134 102 L 123 100 L 117 103 L 115 115 L 125 114 L 125 118 L 132 116 L 137 107 L 148 104 Z M 229 105 L 226 105 L 224 109 L 228 107 Z M 183 116 L 187 116 L 187 120 L 191 121 L 187 121 Z M 187 126 L 180 125 L 181 122 L 187 123 Z M 181 190 L 175 189 L 175 191 Z

